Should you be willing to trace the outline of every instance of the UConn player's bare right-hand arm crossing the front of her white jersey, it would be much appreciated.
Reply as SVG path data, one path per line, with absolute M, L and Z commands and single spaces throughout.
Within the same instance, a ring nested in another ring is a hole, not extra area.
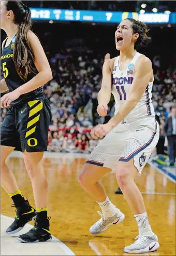
M 118 125 L 137 105 L 150 81 L 152 72 L 151 60 L 145 56 L 141 56 L 135 65 L 135 76 L 129 97 L 121 106 L 119 112 L 109 120 L 109 124 L 112 127 Z

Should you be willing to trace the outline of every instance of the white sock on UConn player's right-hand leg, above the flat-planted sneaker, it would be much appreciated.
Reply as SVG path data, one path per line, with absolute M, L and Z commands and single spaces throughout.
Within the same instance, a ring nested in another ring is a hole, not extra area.
M 138 223 L 139 235 L 152 236 L 154 234 L 149 224 L 148 215 L 146 214 L 146 212 L 141 214 L 136 214 L 134 215 L 134 217 Z

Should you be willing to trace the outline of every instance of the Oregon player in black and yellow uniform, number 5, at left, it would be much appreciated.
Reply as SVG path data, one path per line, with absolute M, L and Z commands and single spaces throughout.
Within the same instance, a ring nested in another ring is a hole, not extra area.
M 31 11 L 26 5 L 21 1 L 3 1 L 1 29 L 7 34 L 1 56 L 4 75 L 1 92 L 9 90 L 1 98 L 1 107 L 9 107 L 1 126 L 1 185 L 12 198 L 12 206 L 17 208 L 14 222 L 6 233 L 17 233 L 36 216 L 35 226 L 18 236 L 18 240 L 50 241 L 48 184 L 41 161 L 43 151 L 47 151 L 51 121 L 50 103 L 43 85 L 52 79 L 52 72 L 37 36 L 30 30 Z M 24 199 L 13 173 L 5 164 L 13 150 L 23 152 L 36 210 Z

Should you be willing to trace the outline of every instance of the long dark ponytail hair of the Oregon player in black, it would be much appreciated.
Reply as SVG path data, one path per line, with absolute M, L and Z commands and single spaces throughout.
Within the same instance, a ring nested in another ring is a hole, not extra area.
M 25 80 L 29 73 L 36 74 L 34 51 L 27 38 L 31 30 L 31 10 L 22 1 L 6 1 L 6 10 L 12 10 L 14 24 L 19 26 L 13 50 L 13 61 L 18 75 Z

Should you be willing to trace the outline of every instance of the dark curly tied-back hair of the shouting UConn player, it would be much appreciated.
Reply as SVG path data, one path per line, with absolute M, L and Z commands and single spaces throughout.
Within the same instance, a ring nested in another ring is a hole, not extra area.
M 141 48 L 143 46 L 147 46 L 149 43 L 150 37 L 148 37 L 147 33 L 149 31 L 146 24 L 144 24 L 141 21 L 137 21 L 132 18 L 127 18 L 126 20 L 129 20 L 131 22 L 131 26 L 133 29 L 134 34 L 138 33 L 139 37 L 135 43 L 135 49 Z

